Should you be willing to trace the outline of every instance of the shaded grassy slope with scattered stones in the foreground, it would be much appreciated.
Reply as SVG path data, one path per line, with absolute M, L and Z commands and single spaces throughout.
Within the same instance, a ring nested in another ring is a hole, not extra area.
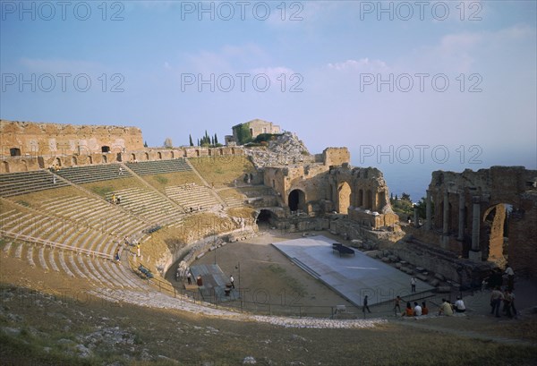
M 2 284 L 3 365 L 532 365 L 537 348 L 383 324 L 281 328 Z

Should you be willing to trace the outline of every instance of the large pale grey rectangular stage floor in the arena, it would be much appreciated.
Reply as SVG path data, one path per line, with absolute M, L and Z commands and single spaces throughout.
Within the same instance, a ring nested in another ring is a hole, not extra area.
M 272 245 L 356 306 L 362 306 L 365 295 L 368 295 L 371 306 L 393 301 L 396 295 L 410 300 L 419 297 L 416 294 L 427 293 L 434 288 L 417 280 L 416 293 L 411 294 L 411 276 L 354 248 L 354 255 L 340 256 L 338 251 L 332 250 L 332 243 L 337 242 L 316 235 Z M 404 303 L 401 308 L 405 308 Z

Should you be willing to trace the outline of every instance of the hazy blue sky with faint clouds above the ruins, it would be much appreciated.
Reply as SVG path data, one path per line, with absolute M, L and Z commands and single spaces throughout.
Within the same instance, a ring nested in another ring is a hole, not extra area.
M 188 145 L 255 118 L 390 192 L 537 168 L 534 1 L 0 1 L 0 117 Z

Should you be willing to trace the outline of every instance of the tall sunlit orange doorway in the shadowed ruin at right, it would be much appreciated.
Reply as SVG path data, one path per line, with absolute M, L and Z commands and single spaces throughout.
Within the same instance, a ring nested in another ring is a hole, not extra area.
M 512 212 L 513 205 L 499 203 L 486 209 L 483 214 L 484 251 L 487 260 L 497 263 L 499 266 L 507 262 L 509 218 Z

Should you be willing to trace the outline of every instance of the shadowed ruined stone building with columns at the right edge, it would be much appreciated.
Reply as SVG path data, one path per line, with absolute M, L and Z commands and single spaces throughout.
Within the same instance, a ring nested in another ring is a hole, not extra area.
M 537 273 L 537 171 L 492 166 L 432 174 L 422 230 L 462 257 Z M 434 209 L 432 209 L 434 203 Z

